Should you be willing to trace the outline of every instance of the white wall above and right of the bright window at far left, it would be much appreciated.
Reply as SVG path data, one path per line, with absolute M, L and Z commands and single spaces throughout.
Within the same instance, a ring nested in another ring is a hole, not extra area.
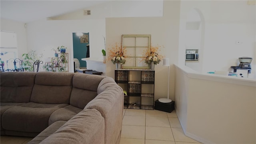
M 27 52 L 26 28 L 23 22 L 1 19 L 1 30 L 15 32 L 17 34 L 18 58 Z

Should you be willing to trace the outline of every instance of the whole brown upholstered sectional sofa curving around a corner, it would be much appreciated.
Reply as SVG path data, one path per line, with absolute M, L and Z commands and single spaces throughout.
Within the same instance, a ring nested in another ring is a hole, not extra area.
M 114 80 L 68 72 L 1 72 L 1 135 L 28 144 L 118 144 L 123 91 Z

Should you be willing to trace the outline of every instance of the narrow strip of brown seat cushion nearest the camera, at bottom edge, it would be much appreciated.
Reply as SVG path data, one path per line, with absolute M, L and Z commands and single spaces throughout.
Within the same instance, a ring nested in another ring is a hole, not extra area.
M 45 130 L 43 130 L 40 134 L 38 134 L 35 138 L 33 138 L 27 144 L 39 144 L 42 140 L 46 139 L 48 136 L 56 132 L 61 126 L 63 126 L 66 121 L 57 121 L 48 126 Z

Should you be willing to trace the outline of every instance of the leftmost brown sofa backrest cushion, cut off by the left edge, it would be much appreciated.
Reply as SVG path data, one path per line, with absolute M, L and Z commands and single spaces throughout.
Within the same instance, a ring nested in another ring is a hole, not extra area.
M 30 102 L 35 72 L 1 72 L 1 102 Z

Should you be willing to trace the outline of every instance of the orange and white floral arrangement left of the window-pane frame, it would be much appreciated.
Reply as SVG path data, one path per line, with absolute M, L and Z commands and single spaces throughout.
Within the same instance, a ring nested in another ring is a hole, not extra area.
M 115 46 L 108 48 L 108 60 L 111 60 L 113 64 L 120 63 L 125 64 L 126 60 L 124 59 L 124 52 L 126 52 L 125 48 L 122 51 L 122 47 L 120 44 L 116 43 Z

